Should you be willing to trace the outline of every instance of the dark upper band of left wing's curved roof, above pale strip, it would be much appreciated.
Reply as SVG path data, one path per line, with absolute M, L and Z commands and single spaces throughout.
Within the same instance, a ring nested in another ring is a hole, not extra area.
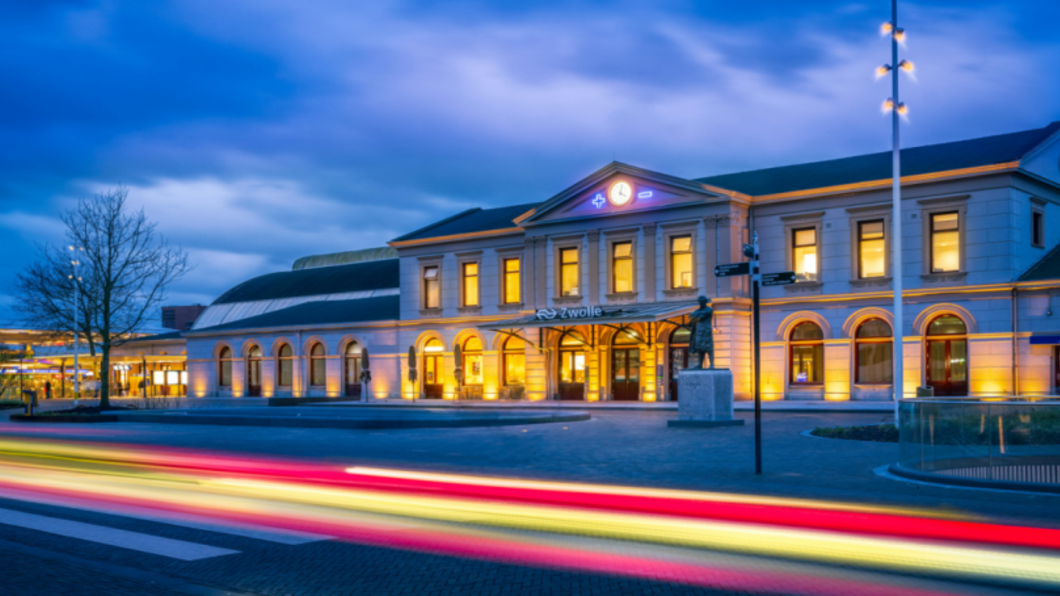
M 266 274 L 222 294 L 213 304 L 396 288 L 399 263 L 386 259 Z

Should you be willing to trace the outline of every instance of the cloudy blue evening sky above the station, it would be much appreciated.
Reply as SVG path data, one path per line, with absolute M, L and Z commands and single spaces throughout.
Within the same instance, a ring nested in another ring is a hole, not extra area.
M 887 0 L 0 3 L 0 319 L 58 213 L 124 185 L 209 303 L 298 257 L 618 159 L 696 177 L 889 148 Z M 1060 2 L 901 3 L 909 144 L 1060 120 Z

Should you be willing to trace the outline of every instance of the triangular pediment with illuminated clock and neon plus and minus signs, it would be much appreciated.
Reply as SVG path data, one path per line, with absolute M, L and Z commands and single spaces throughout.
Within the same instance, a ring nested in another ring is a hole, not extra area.
M 537 206 L 516 223 L 520 226 L 533 226 L 702 205 L 730 198 L 741 196 L 739 193 L 714 189 L 693 180 L 612 162 Z

